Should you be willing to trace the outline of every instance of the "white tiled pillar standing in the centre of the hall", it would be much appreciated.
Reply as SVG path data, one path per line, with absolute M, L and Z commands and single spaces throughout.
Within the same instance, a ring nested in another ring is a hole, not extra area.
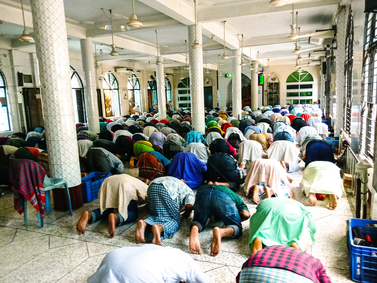
M 195 131 L 204 132 L 204 84 L 203 84 L 203 49 L 193 49 L 195 40 L 195 26 L 189 29 L 189 62 L 190 62 L 190 94 L 191 94 L 191 120 Z M 202 44 L 202 24 L 196 25 L 196 36 Z

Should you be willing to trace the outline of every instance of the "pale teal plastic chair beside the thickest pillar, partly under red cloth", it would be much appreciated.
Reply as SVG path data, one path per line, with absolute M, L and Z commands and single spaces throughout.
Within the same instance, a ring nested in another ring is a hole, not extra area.
M 43 181 L 43 186 L 44 186 L 44 192 L 46 195 L 46 200 L 45 200 L 45 206 L 44 206 L 44 211 L 51 211 L 51 195 L 50 195 L 50 190 L 60 188 L 61 186 L 64 186 L 67 192 L 67 198 L 68 198 L 68 206 L 69 206 L 69 215 L 73 215 L 72 213 L 72 207 L 70 203 L 70 196 L 69 196 L 69 189 L 66 180 L 64 179 L 59 179 L 59 178 L 49 178 L 44 177 Z M 24 197 L 24 226 L 28 224 L 28 219 L 27 219 L 27 207 L 28 201 Z M 41 216 L 40 212 L 38 211 L 38 225 L 39 228 L 43 228 L 43 217 Z

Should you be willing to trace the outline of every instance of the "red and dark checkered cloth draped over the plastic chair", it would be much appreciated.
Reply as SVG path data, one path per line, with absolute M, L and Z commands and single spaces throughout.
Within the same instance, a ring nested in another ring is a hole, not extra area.
M 24 211 L 25 197 L 44 218 L 45 194 L 43 181 L 46 171 L 37 162 L 28 159 L 11 159 L 9 181 L 14 193 L 14 208 Z

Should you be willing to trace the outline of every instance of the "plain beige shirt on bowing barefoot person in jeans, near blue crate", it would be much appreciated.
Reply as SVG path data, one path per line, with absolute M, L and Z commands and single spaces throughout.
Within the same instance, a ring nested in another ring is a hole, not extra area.
M 148 185 L 127 174 L 107 177 L 98 192 L 101 213 L 107 208 L 117 208 L 124 220 L 128 218 L 131 200 L 146 200 Z M 139 196 L 139 198 L 138 198 Z

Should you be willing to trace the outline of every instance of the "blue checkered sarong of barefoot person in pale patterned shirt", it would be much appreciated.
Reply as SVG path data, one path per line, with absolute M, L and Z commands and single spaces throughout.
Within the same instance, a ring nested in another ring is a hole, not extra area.
M 167 189 L 162 184 L 152 183 L 147 190 L 150 216 L 145 220 L 147 226 L 145 239 L 150 241 L 153 238 L 152 225 L 160 224 L 164 227 L 161 233 L 161 240 L 172 238 L 174 233 L 181 226 L 181 213 L 177 199 L 172 200 Z

